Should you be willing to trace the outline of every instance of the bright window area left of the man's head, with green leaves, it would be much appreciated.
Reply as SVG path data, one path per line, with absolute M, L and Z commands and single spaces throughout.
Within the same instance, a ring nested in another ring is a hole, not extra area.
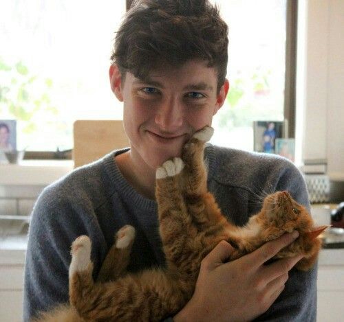
M 75 119 L 121 118 L 109 56 L 125 1 L 13 0 L 0 10 L 0 119 L 19 149 L 72 148 Z

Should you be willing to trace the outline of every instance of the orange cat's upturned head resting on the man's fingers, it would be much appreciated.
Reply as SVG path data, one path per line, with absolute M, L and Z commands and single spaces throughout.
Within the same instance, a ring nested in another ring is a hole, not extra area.
M 319 227 L 314 225 L 308 210 L 297 203 L 286 191 L 275 192 L 268 195 L 263 205 L 266 225 L 276 227 L 283 232 L 299 231 L 299 238 L 279 253 L 279 257 L 289 257 L 297 254 L 305 255 L 298 264 L 300 269 L 310 268 L 310 260 L 317 255 L 321 248 L 321 240 L 316 231 Z M 313 261 L 312 261 L 313 262 Z

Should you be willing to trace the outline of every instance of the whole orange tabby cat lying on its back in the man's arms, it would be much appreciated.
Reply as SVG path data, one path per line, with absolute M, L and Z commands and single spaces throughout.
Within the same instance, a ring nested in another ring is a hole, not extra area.
M 186 143 L 182 159 L 166 161 L 156 172 L 160 236 L 166 268 L 125 274 L 135 230 L 118 231 L 100 270 L 92 279 L 91 242 L 80 236 L 72 244 L 69 267 L 71 306 L 44 313 L 36 321 L 160 321 L 178 312 L 193 295 L 202 259 L 222 240 L 235 247 L 235 260 L 285 232 L 299 231 L 299 238 L 277 255 L 305 257 L 296 265 L 310 269 L 321 248 L 314 238 L 313 222 L 305 207 L 288 192 L 268 195 L 264 205 L 244 227 L 236 227 L 222 215 L 207 191 L 204 142 L 213 135 L 206 127 Z

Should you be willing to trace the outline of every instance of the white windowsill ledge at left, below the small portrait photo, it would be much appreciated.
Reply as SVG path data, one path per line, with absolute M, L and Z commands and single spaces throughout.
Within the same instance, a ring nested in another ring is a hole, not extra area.
M 50 185 L 74 168 L 72 160 L 23 160 L 0 163 L 0 185 Z

